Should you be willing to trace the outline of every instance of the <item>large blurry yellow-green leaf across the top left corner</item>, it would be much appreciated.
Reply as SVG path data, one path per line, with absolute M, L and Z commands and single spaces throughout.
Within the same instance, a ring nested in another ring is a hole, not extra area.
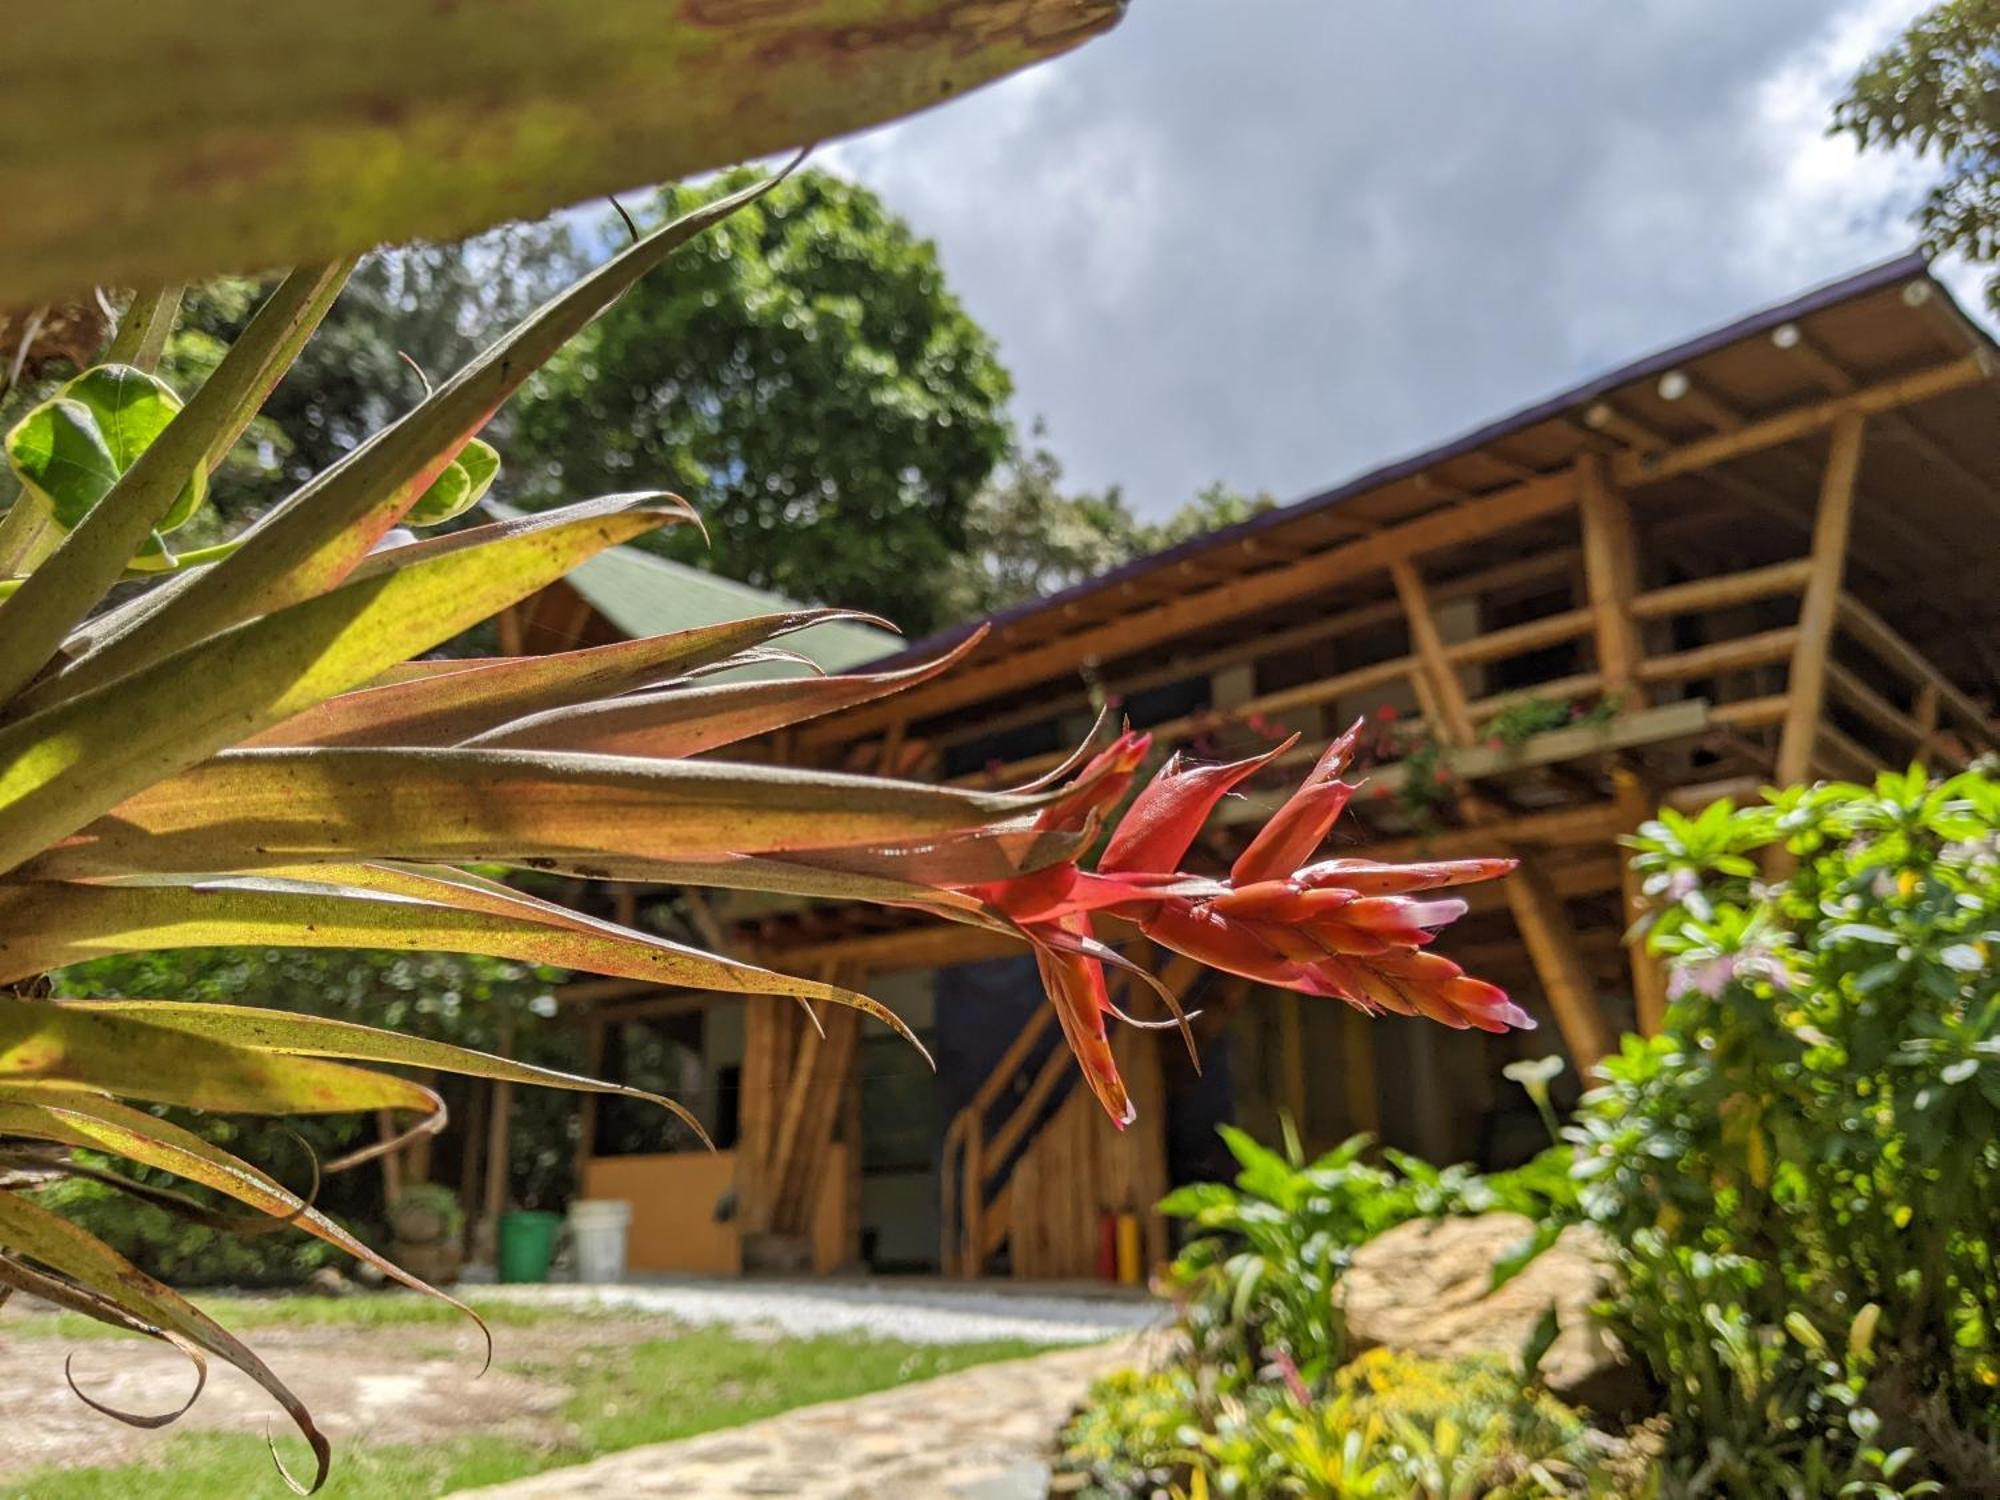
M 458 240 L 928 110 L 1118 0 L 10 6 L 0 306 Z M 192 108 L 194 82 L 226 94 Z M 88 108 L 78 100 L 88 98 Z M 222 108 L 226 102 L 228 108 Z M 60 132 L 52 122 L 60 120 Z

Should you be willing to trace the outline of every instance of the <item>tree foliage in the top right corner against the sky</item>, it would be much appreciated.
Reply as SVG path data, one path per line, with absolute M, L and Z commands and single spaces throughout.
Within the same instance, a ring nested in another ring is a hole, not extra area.
M 1864 148 L 1910 146 L 1942 174 L 1924 198 L 1924 244 L 2000 260 L 2000 0 L 1944 0 L 1856 74 L 1834 128 Z M 2000 276 L 1986 282 L 2000 312 Z

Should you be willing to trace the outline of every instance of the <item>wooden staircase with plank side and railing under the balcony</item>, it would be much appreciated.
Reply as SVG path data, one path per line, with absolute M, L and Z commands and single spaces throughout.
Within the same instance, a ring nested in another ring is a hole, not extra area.
M 1138 962 L 1148 962 L 1144 956 Z M 1180 992 L 1198 964 L 1174 958 L 1160 978 Z M 1112 998 L 1128 1014 L 1146 1006 L 1130 974 Z M 1158 1002 L 1154 1002 L 1156 1006 Z M 1076 1058 L 1048 1006 L 1034 1012 L 944 1134 L 942 1244 L 948 1276 L 1006 1274 L 1088 1280 L 1100 1274 L 1104 1214 L 1138 1214 L 1144 1262 L 1166 1258 L 1166 1086 L 1160 1048 L 1178 1032 L 1112 1022 L 1112 1056 L 1138 1118 L 1118 1130 L 1082 1086 Z

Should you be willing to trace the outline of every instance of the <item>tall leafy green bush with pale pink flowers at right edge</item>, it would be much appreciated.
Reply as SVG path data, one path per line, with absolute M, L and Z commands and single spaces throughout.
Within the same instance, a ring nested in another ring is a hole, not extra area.
M 1674 1004 L 1568 1134 L 1678 1470 L 2000 1486 L 2000 784 L 1792 788 L 1628 842 Z

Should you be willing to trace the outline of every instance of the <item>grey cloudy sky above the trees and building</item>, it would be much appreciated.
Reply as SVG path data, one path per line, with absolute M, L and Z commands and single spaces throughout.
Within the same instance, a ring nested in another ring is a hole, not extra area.
M 1310 494 L 1898 254 L 1826 138 L 1922 0 L 1134 0 L 830 166 L 938 240 L 1076 484 Z

